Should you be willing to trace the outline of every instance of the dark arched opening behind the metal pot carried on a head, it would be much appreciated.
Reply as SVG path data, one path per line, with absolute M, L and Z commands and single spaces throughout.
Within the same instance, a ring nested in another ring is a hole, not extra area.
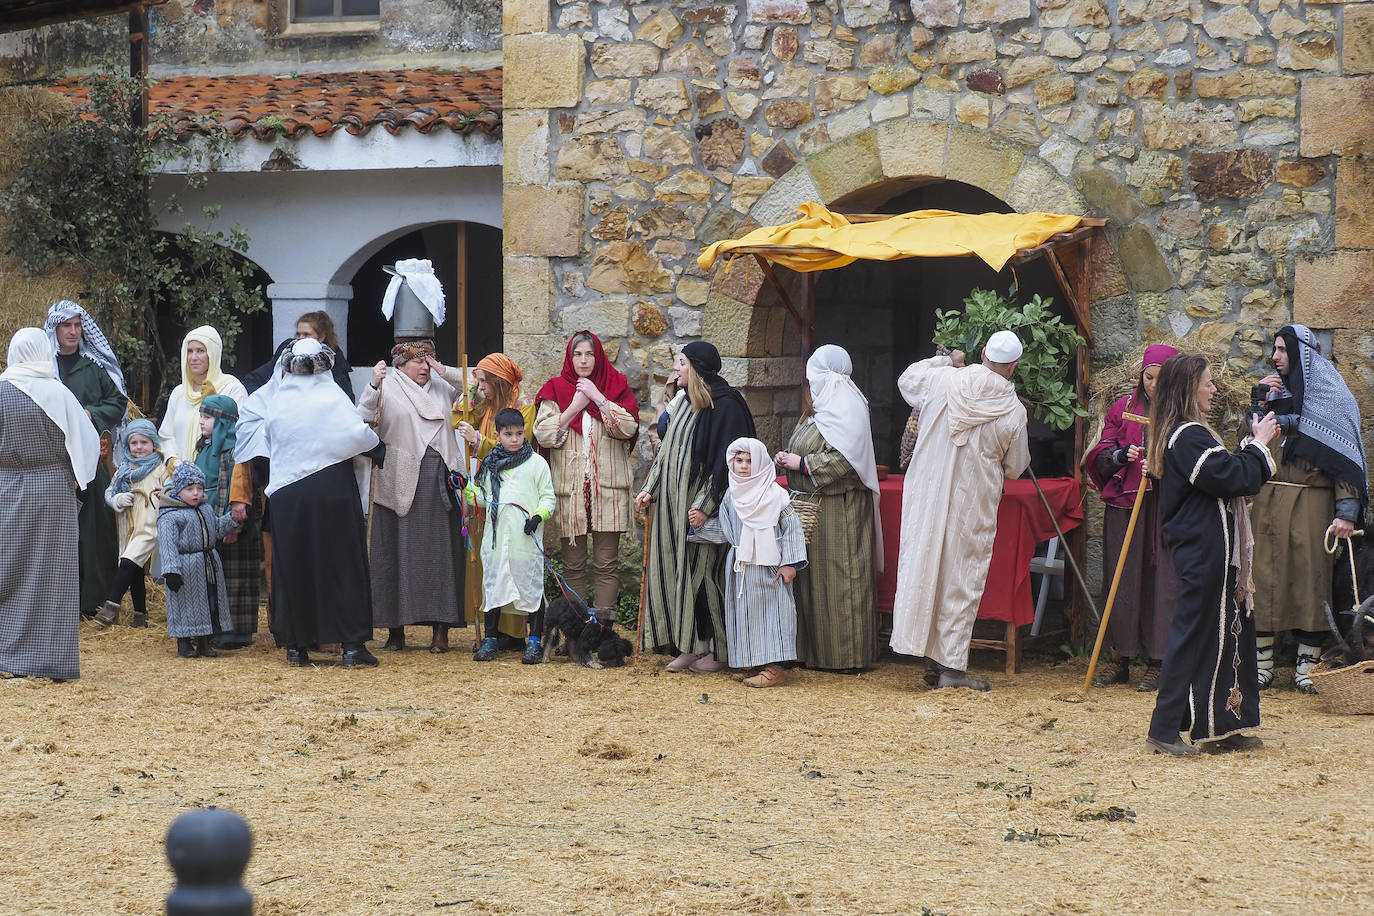
M 466 264 L 462 288 L 458 283 L 460 244 Z M 448 317 L 434 341 L 441 363 L 456 365 L 460 358 L 460 295 L 467 305 L 469 360 L 475 363 L 502 349 L 502 231 L 481 222 L 441 222 L 414 229 L 383 244 L 353 275 L 353 298 L 348 310 L 348 357 L 356 368 L 390 360 L 392 323 L 382 317 L 382 295 L 392 277 L 382 266 L 404 258 L 429 258 L 444 284 Z

